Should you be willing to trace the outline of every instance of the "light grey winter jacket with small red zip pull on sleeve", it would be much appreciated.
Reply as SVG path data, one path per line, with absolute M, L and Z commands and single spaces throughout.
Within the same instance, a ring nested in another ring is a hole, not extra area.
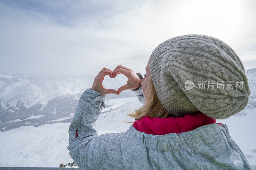
M 144 103 L 142 89 L 132 90 Z M 68 150 L 82 169 L 251 169 L 226 124 L 179 134 L 152 135 L 132 125 L 126 132 L 97 135 L 94 124 L 105 95 L 86 89 L 70 124 Z M 77 138 L 76 138 L 77 128 Z

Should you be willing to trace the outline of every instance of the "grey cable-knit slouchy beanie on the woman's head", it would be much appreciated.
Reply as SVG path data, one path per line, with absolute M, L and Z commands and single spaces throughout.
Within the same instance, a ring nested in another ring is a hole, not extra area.
M 200 111 L 224 119 L 243 110 L 251 93 L 236 53 L 206 35 L 177 36 L 158 45 L 150 73 L 160 103 L 176 117 Z

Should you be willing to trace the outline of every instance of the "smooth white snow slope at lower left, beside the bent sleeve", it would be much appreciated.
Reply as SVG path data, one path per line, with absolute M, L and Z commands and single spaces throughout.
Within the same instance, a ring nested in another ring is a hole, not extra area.
M 59 167 L 72 163 L 67 149 L 69 124 L 23 126 L 0 132 L 0 167 Z M 99 134 L 110 132 L 99 130 Z

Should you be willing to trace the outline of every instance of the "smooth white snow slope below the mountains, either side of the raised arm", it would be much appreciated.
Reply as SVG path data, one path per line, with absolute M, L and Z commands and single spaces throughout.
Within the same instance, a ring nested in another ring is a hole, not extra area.
M 126 131 L 132 123 L 122 121 L 134 120 L 126 113 L 142 106 L 136 97 L 109 99 L 107 104 L 109 108 L 102 110 L 95 124 L 98 135 Z M 59 167 L 72 163 L 67 149 L 69 125 L 23 126 L 0 132 L 0 167 Z

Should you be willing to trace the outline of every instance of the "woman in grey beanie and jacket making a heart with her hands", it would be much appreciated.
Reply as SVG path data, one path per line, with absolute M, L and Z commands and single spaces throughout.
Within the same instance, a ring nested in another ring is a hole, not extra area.
M 105 75 L 120 73 L 126 85 L 102 86 Z M 154 49 L 141 78 L 121 65 L 103 68 L 84 91 L 68 130 L 69 155 L 80 169 L 251 169 L 226 124 L 216 124 L 243 110 L 251 93 L 227 44 L 197 34 L 168 39 Z M 136 121 L 126 132 L 97 135 L 93 125 L 105 95 L 126 89 L 144 103 L 130 114 Z

